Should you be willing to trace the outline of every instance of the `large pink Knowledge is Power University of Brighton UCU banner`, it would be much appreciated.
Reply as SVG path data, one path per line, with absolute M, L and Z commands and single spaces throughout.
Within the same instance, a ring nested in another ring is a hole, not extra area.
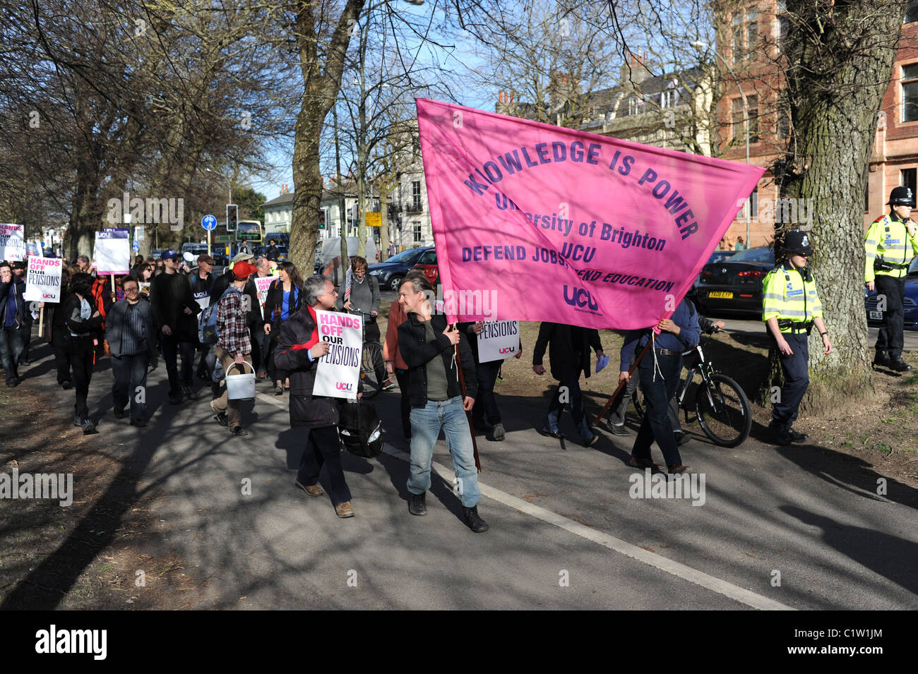
M 450 320 L 634 329 L 679 300 L 765 172 L 417 99 Z

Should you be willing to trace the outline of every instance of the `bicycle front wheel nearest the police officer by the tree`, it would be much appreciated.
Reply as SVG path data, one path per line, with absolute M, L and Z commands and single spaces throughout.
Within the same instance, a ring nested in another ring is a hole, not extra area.
M 752 409 L 739 384 L 720 372 L 700 382 L 695 400 L 698 423 L 715 445 L 738 447 L 752 428 Z

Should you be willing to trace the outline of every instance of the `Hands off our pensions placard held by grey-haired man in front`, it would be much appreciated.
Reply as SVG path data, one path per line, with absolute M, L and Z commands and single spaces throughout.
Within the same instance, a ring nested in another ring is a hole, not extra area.
M 363 316 L 316 310 L 319 340 L 329 342 L 329 352 L 316 366 L 313 395 L 356 398 L 363 348 Z

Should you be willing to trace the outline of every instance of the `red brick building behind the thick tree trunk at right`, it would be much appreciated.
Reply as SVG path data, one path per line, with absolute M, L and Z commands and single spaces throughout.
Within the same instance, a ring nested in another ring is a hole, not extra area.
M 751 246 L 765 245 L 773 238 L 776 212 L 779 219 L 793 224 L 805 224 L 809 216 L 807 204 L 778 204 L 778 185 L 770 168 L 781 155 L 789 134 L 789 115 L 779 104 L 781 78 L 774 66 L 788 25 L 783 11 L 780 0 L 750 4 L 744 12 L 727 14 L 718 30 L 718 61 L 724 72 L 717 115 L 722 157 L 746 160 L 748 120 L 748 161 L 768 169 L 756 193 L 727 231 L 730 248 L 739 237 Z M 878 215 L 888 212 L 884 204 L 893 187 L 916 187 L 918 0 L 908 6 L 903 23 L 900 49 L 883 97 L 870 157 L 864 195 L 865 229 Z

